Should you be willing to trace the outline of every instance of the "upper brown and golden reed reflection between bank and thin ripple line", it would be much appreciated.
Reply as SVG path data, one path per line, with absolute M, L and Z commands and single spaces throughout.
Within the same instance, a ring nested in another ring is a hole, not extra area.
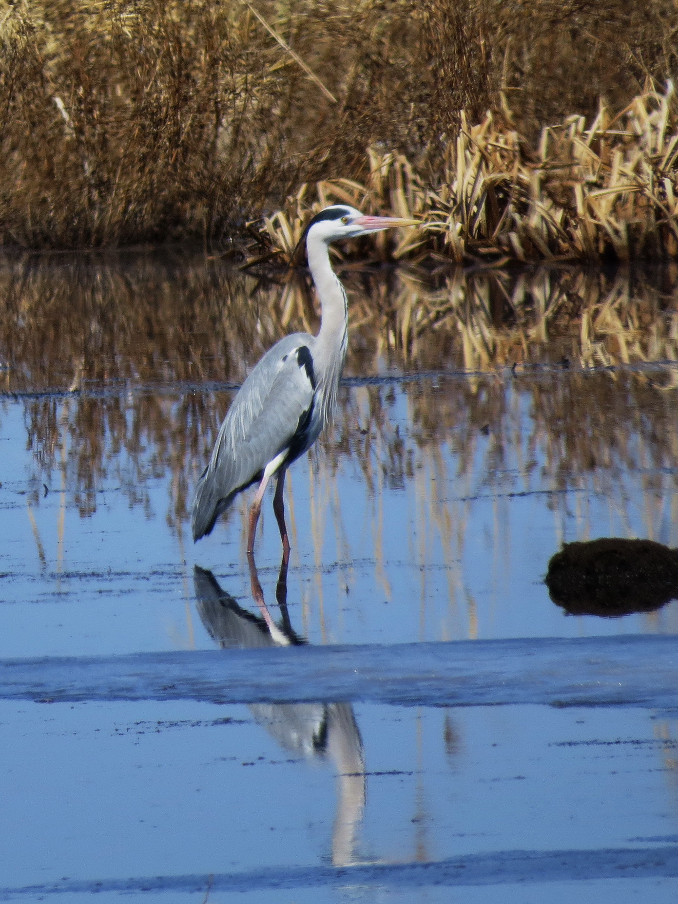
M 646 274 L 338 271 L 349 291 L 347 374 L 678 358 L 674 263 Z M 239 383 L 282 334 L 317 324 L 302 274 L 257 278 L 178 251 L 0 256 L 0 389 L 9 393 Z

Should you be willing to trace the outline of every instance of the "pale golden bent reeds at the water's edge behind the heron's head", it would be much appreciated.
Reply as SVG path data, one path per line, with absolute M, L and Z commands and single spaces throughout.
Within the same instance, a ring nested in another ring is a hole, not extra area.
M 678 104 L 670 81 L 614 117 L 601 101 L 588 127 L 581 116 L 544 127 L 532 146 L 505 117 L 489 112 L 472 126 L 462 114 L 439 177 L 406 155 L 373 146 L 365 183 L 326 180 L 314 193 L 304 184 L 263 219 L 262 233 L 289 258 L 311 212 L 347 202 L 421 219 L 421 230 L 400 231 L 395 246 L 381 240 L 382 254 L 388 248 L 392 259 L 421 260 L 431 252 L 456 262 L 674 258 L 677 160 Z

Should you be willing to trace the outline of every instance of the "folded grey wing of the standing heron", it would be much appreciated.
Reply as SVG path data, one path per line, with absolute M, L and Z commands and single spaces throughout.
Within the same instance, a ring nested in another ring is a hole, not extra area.
M 209 533 L 234 495 L 289 447 L 313 401 L 313 382 L 293 354 L 313 337 L 297 333 L 273 345 L 244 381 L 226 414 L 193 503 L 193 538 Z

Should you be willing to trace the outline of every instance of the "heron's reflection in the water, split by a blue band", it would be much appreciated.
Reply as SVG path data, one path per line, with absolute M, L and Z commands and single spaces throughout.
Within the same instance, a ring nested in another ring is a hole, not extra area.
M 281 621 L 275 624 L 250 559 L 254 599 L 261 615 L 238 605 L 211 571 L 195 566 L 197 610 L 209 635 L 228 647 L 264 647 L 304 643 L 290 623 L 287 609 L 287 556 L 283 555 L 276 598 Z M 332 832 L 332 863 L 356 862 L 358 826 L 365 808 L 365 758 L 353 708 L 349 703 L 251 703 L 254 720 L 283 749 L 305 758 L 329 758 L 338 774 L 337 814 Z

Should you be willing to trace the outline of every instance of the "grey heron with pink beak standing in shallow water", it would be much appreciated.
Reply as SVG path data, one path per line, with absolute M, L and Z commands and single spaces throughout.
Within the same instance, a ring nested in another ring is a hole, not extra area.
M 346 357 L 349 306 L 346 292 L 329 263 L 329 244 L 395 226 L 419 225 L 401 217 L 365 216 L 348 204 L 332 204 L 310 221 L 306 239 L 310 275 L 320 299 L 318 335 L 293 333 L 274 344 L 238 390 L 216 438 L 215 448 L 196 487 L 194 541 L 212 531 L 216 519 L 237 494 L 258 483 L 250 508 L 248 555 L 263 494 L 277 477 L 273 512 L 285 554 L 290 541 L 282 492 L 285 472 L 307 452 L 329 424 L 337 402 Z

